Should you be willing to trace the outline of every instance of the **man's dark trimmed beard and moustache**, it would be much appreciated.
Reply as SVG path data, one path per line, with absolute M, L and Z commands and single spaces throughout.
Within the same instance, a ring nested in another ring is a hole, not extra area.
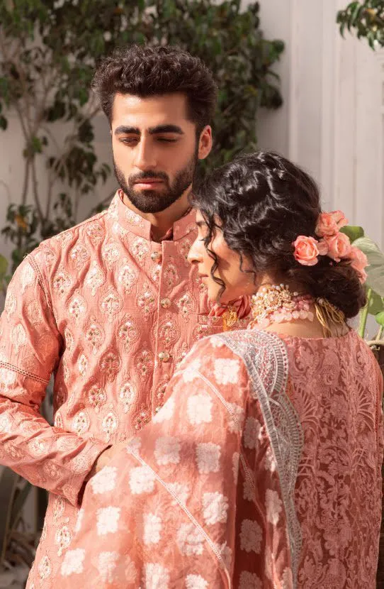
M 188 186 L 193 182 L 195 176 L 196 166 L 198 163 L 198 153 L 193 155 L 186 167 L 176 173 L 174 182 L 169 182 L 169 177 L 165 172 L 139 172 L 132 175 L 125 180 L 125 176 L 120 168 L 115 163 L 113 158 L 113 167 L 115 168 L 115 176 L 118 180 L 120 188 L 128 197 L 130 202 L 138 211 L 142 213 L 159 213 L 168 209 L 171 204 L 174 204 L 181 195 L 186 191 Z M 158 190 L 135 190 L 135 182 L 140 180 L 158 178 L 164 180 L 164 188 Z

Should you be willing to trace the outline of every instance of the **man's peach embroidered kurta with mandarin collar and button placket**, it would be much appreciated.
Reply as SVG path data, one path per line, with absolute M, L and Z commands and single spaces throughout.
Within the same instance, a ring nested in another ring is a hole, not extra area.
M 0 323 L 0 461 L 50 495 L 35 587 L 69 546 L 98 455 L 162 407 L 192 343 L 222 330 L 187 262 L 195 216 L 173 238 L 116 194 L 108 211 L 40 244 L 16 271 Z M 38 408 L 55 375 L 52 427 Z M 32 580 L 30 580 L 30 583 Z

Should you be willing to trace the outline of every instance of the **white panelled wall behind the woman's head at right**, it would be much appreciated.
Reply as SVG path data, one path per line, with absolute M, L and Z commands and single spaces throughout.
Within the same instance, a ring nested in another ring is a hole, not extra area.
M 384 247 L 384 53 L 335 23 L 347 0 L 261 0 L 266 38 L 286 41 L 280 66 L 286 104 L 259 115 L 259 146 L 312 173 L 324 207 Z

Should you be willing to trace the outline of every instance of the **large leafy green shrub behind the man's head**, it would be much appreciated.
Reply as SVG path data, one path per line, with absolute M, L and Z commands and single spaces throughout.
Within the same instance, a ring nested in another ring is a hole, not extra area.
M 264 40 L 259 3 L 240 0 L 4 0 L 0 2 L 0 128 L 9 109 L 23 129 L 21 202 L 8 214 L 4 234 L 15 246 L 13 270 L 41 238 L 77 222 L 79 201 L 111 173 L 94 150 L 90 92 L 97 60 L 127 43 L 169 43 L 202 57 L 218 80 L 215 146 L 205 165 L 230 160 L 256 145 L 259 106 L 281 105 L 273 64 L 283 51 Z M 67 123 L 63 137 L 57 123 Z M 36 163 L 47 168 L 47 192 Z M 33 205 L 27 204 L 33 197 Z M 107 199 L 108 200 L 108 199 Z M 101 206 L 104 206 L 103 202 Z M 30 207 L 30 208 L 28 208 Z M 97 207 L 100 208 L 100 207 Z M 25 223 L 20 224 L 20 219 Z

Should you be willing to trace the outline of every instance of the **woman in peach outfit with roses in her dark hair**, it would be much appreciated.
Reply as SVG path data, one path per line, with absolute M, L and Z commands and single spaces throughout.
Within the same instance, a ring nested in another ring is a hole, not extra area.
M 191 263 L 224 327 L 252 297 L 251 329 L 198 342 L 91 478 L 57 584 L 373 589 L 383 383 L 346 324 L 366 259 L 272 153 L 213 172 L 193 206 Z

